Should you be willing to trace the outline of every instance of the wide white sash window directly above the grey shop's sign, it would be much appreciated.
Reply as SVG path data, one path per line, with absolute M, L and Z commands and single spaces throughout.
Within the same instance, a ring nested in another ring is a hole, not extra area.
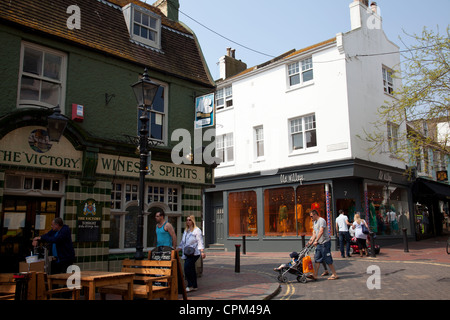
M 289 149 L 291 153 L 298 153 L 305 150 L 317 150 L 317 120 L 315 113 L 289 119 Z M 308 147 L 308 133 L 314 132 L 316 137 L 315 145 Z M 295 148 L 294 135 L 301 135 L 302 146 Z

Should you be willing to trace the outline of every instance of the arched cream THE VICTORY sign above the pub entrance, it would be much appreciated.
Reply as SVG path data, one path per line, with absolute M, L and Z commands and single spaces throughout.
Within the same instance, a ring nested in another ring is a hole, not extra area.
M 69 140 L 51 142 L 43 127 L 19 128 L 1 140 L 0 164 L 81 171 L 81 159 Z

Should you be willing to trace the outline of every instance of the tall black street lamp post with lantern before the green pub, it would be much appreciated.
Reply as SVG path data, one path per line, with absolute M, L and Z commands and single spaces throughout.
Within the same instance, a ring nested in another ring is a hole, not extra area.
M 139 117 L 140 130 L 139 130 L 139 153 L 140 153 L 140 166 L 139 166 L 139 211 L 138 211 L 138 225 L 137 225 L 137 239 L 136 239 L 136 260 L 144 259 L 144 195 L 145 195 L 145 176 L 150 170 L 150 150 L 149 150 L 149 132 L 150 132 L 150 117 L 149 113 L 152 112 L 153 100 L 158 92 L 159 85 L 150 80 L 145 68 L 142 79 L 131 86 L 136 96 L 139 110 L 141 115 Z

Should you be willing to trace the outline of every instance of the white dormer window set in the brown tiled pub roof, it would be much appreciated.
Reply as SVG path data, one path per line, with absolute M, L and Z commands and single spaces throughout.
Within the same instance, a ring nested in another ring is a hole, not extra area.
M 144 45 L 161 49 L 161 17 L 133 3 L 126 5 L 122 10 L 130 38 Z

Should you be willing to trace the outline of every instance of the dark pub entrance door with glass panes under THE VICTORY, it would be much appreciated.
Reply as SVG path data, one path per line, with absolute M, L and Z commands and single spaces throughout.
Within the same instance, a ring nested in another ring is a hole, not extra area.
M 59 198 L 5 196 L 1 214 L 0 272 L 18 272 L 32 239 L 50 230 L 59 217 Z

